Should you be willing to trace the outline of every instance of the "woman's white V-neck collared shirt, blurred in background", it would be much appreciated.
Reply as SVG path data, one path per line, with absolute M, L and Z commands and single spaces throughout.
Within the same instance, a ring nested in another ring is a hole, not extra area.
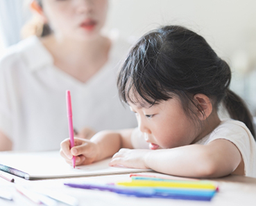
M 107 64 L 85 84 L 56 68 L 35 36 L 10 47 L 0 59 L 0 130 L 13 149 L 60 149 L 69 138 L 66 90 L 71 91 L 77 131 L 136 127 L 135 115 L 121 104 L 117 91 L 117 71 L 129 47 L 112 40 Z

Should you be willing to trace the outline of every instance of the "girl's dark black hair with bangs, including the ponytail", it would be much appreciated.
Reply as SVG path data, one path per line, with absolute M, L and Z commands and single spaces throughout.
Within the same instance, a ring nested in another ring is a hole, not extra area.
M 216 111 L 223 102 L 230 117 L 244 122 L 255 137 L 252 115 L 244 101 L 230 91 L 230 80 L 230 67 L 203 37 L 182 26 L 164 26 L 144 35 L 130 50 L 117 86 L 123 102 L 142 106 L 176 95 L 194 120 L 192 106 L 197 105 L 193 97 L 202 93 Z M 140 97 L 144 102 L 139 102 Z

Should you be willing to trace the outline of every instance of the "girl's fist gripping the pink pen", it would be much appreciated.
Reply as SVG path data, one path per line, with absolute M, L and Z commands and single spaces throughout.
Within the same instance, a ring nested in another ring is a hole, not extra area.
M 96 161 L 100 153 L 97 144 L 83 138 L 74 138 L 74 143 L 75 146 L 71 149 L 69 139 L 63 140 L 60 144 L 60 155 L 69 165 L 72 165 L 73 156 L 76 156 L 76 165 L 89 165 Z

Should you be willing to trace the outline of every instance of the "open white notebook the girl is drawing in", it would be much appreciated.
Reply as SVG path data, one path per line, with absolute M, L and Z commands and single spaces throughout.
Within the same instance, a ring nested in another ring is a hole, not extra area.
M 110 162 L 110 158 L 95 162 L 91 165 L 76 166 L 74 169 L 71 165 L 68 165 L 67 162 L 65 162 L 58 151 L 0 153 L 0 170 L 27 180 L 129 174 L 152 171 L 151 169 L 110 167 L 108 166 L 108 162 Z

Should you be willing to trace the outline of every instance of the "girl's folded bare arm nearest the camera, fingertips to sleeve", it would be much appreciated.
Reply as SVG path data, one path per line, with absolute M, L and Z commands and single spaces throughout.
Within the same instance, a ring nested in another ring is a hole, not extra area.
M 214 178 L 231 174 L 241 162 L 241 154 L 230 141 L 219 139 L 207 145 L 191 144 L 173 149 L 123 149 L 111 165 L 150 168 L 175 176 Z

